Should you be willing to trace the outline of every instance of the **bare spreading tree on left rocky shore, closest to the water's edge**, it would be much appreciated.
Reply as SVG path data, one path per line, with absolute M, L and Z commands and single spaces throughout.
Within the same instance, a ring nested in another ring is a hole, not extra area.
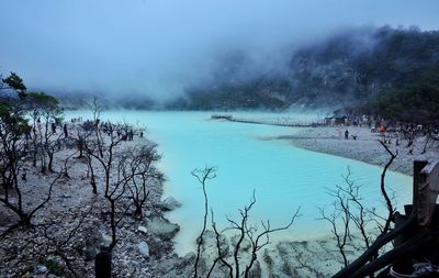
M 98 188 L 94 171 L 100 167 L 103 171 L 103 189 L 104 198 L 108 200 L 110 208 L 110 230 L 112 234 L 112 243 L 110 251 L 117 243 L 117 226 L 123 220 L 124 214 L 130 210 L 132 204 L 136 204 L 136 213 L 142 214 L 148 193 L 146 190 L 149 178 L 157 178 L 155 167 L 151 167 L 159 159 L 156 153 L 156 145 L 150 143 L 142 147 L 126 147 L 121 149 L 123 138 L 117 135 L 126 129 L 126 125 L 112 125 L 115 133 L 111 132 L 104 135 L 98 129 L 99 137 L 92 133 L 85 141 L 85 149 L 87 152 L 88 168 L 92 174 L 92 184 Z M 132 197 L 127 192 L 132 192 Z M 135 202 L 127 203 L 126 199 L 134 199 Z

